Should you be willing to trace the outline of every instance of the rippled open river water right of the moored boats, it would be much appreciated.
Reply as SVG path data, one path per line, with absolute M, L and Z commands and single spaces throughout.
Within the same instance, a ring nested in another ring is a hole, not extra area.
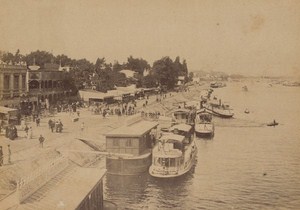
M 214 95 L 230 103 L 234 119 L 214 118 L 214 138 L 196 139 L 189 173 L 107 175 L 105 199 L 118 209 L 300 209 L 300 88 L 229 83 Z M 279 126 L 266 126 L 273 119 Z

